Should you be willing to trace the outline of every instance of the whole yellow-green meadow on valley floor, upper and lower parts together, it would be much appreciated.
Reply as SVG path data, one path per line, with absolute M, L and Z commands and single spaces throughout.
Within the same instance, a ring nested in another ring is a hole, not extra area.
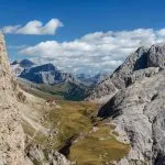
M 78 136 L 72 144 L 68 158 L 76 161 L 77 165 L 101 165 L 106 162 L 112 163 L 128 154 L 130 146 L 119 142 L 116 139 L 118 133 L 116 125 L 105 124 L 103 121 L 95 123 L 98 129 L 96 132 L 91 117 L 97 113 L 98 105 L 87 101 L 66 101 L 59 100 L 57 106 L 45 106 L 43 108 L 33 103 L 33 109 L 40 111 L 43 116 L 42 127 L 50 129 L 52 135 L 44 135 L 42 131 L 32 129 L 23 122 L 26 134 L 34 138 L 35 143 L 42 144 L 45 148 L 62 148 L 73 136 Z M 42 107 L 42 106 L 41 106 Z

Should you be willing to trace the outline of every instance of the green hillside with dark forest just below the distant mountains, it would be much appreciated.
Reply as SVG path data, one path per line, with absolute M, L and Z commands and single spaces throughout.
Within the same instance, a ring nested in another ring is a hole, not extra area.
M 46 84 L 34 84 L 23 78 L 16 78 L 20 87 L 34 96 L 41 98 L 55 97 L 63 100 L 81 101 L 92 89 L 91 87 L 85 86 L 82 84 L 76 84 L 72 81 L 61 82 L 57 85 L 46 85 Z

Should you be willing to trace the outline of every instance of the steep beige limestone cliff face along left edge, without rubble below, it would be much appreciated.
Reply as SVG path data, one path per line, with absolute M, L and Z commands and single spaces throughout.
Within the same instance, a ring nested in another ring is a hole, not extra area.
M 24 133 L 3 34 L 0 34 L 0 165 L 24 165 Z

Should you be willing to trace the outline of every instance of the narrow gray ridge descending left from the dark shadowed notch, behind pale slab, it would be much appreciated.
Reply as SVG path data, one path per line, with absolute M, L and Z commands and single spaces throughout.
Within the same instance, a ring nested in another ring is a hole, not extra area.
M 125 77 L 134 70 L 147 67 L 147 48 L 140 47 L 119 66 L 111 76 L 107 76 L 91 92 L 88 100 L 108 101 L 118 90 L 125 88 Z

